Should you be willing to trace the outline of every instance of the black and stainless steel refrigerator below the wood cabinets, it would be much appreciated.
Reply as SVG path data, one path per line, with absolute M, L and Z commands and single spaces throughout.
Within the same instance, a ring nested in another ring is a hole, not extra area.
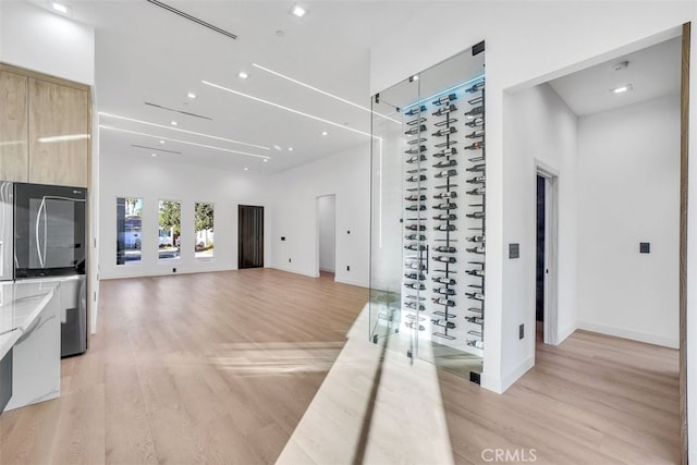
M 0 280 L 60 280 L 61 356 L 87 348 L 84 187 L 0 183 Z

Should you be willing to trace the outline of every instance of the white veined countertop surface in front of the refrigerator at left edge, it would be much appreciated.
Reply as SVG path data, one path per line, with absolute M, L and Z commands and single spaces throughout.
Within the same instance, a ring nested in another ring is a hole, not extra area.
M 32 330 L 59 285 L 57 280 L 0 282 L 0 358 Z

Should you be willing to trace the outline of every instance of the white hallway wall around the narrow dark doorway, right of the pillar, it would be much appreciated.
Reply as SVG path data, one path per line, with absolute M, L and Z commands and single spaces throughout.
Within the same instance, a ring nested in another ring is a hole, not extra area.
M 503 381 L 506 389 L 535 360 L 535 269 L 537 167 L 558 175 L 558 339 L 575 329 L 576 321 L 576 238 L 577 238 L 577 118 L 557 93 L 542 84 L 505 95 L 503 146 L 510 158 L 504 164 L 506 186 L 503 204 L 503 243 L 521 244 L 521 257 L 503 261 L 508 283 L 504 308 L 515 309 L 514 318 L 503 319 Z M 489 192 L 489 191 L 488 191 Z M 487 294 L 488 296 L 488 294 Z M 488 298 L 487 298 L 488 299 Z M 518 325 L 525 338 L 518 340 Z M 489 345 L 485 343 L 485 354 Z

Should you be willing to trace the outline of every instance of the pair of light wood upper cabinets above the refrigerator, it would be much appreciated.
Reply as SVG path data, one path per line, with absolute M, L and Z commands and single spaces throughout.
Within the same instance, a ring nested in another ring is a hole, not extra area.
M 0 180 L 88 187 L 89 87 L 0 64 Z

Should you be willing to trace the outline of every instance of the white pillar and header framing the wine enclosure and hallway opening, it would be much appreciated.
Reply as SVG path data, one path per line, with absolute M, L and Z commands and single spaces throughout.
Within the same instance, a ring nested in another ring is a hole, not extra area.
M 442 27 L 442 17 L 461 17 L 467 27 Z M 401 24 L 371 49 L 374 94 L 486 40 L 485 388 L 502 392 L 505 384 L 522 375 L 521 357 L 515 351 L 517 332 L 512 333 L 511 328 L 527 318 L 527 308 L 513 298 L 517 289 L 526 285 L 519 281 L 523 274 L 509 273 L 504 278 L 505 243 L 511 238 L 508 233 L 504 236 L 504 203 L 511 199 L 523 209 L 529 203 L 527 192 L 518 191 L 519 184 L 505 183 L 504 166 L 512 161 L 513 147 L 503 145 L 504 89 L 529 87 L 638 50 L 673 37 L 684 22 L 696 19 L 697 3 L 680 1 L 632 2 L 631 8 L 626 2 L 432 2 L 424 5 L 418 17 Z M 419 30 L 419 40 L 404 47 L 404 30 L 411 29 Z M 693 48 L 693 62 L 697 63 L 697 48 Z M 697 120 L 697 106 L 690 108 L 690 121 Z M 697 197 L 697 192 L 694 195 Z M 505 208 L 515 210 L 514 205 Z M 511 221 L 505 224 L 509 228 Z M 689 311 L 696 309 L 697 302 Z

